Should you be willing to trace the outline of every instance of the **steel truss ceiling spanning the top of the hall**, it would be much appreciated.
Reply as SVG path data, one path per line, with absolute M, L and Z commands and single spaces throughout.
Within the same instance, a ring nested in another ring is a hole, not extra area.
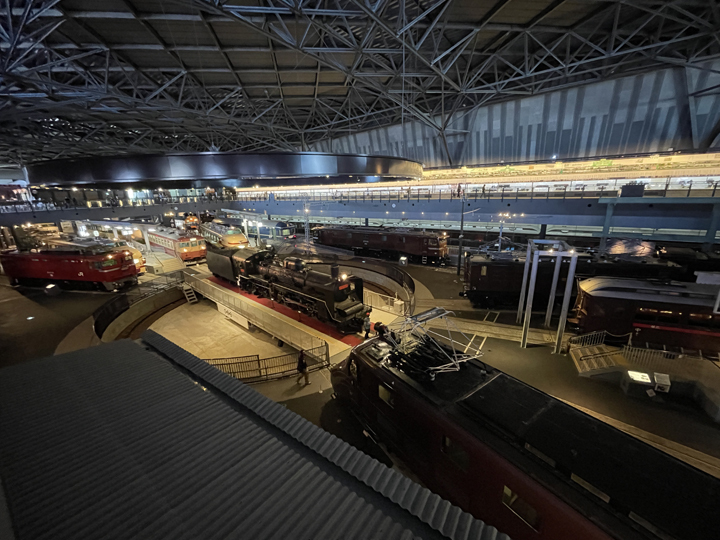
M 720 57 L 715 0 L 598 0 L 568 25 L 566 0 L 527 20 L 513 1 L 467 17 L 453 0 L 4 0 L 0 159 L 307 149 L 411 120 L 444 140 L 483 104 Z

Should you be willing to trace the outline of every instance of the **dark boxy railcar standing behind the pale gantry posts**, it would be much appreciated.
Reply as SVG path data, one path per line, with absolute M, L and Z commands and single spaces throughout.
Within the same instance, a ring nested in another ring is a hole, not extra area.
M 516 307 L 520 300 L 525 256 L 525 251 L 501 251 L 466 258 L 464 291 L 461 294 L 476 307 Z M 547 305 L 555 260 L 553 256 L 540 257 L 535 282 L 536 305 Z M 569 265 L 569 259 L 565 258 L 560 273 L 561 283 L 567 278 Z M 629 276 L 671 280 L 681 279 L 684 273 L 685 270 L 678 264 L 655 257 L 597 253 L 579 253 L 575 269 L 578 277 Z M 558 285 L 558 294 L 563 290 L 564 285 Z

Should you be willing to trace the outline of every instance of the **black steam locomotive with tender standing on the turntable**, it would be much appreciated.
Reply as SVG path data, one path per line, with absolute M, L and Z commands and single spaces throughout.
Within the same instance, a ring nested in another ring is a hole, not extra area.
M 208 251 L 207 265 L 213 275 L 224 278 L 251 294 L 302 311 L 330 323 L 341 332 L 357 332 L 372 308 L 363 304 L 363 281 L 311 270 L 297 257 L 280 260 L 272 250 L 244 248 Z

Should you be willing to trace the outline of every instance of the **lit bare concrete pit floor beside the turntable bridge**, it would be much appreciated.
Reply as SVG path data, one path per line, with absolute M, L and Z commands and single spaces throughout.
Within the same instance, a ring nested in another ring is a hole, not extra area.
M 198 358 L 231 358 L 257 354 L 269 358 L 294 352 L 261 330 L 246 330 L 221 315 L 214 302 L 182 304 L 155 321 L 150 330 Z

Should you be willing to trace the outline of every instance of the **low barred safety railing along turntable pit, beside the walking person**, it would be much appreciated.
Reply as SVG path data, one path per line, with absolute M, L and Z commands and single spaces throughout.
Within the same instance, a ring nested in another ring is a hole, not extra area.
M 303 352 L 308 371 L 315 371 L 330 365 L 326 354 L 326 344 Z M 270 358 L 250 355 L 237 358 L 210 358 L 204 361 L 231 377 L 246 383 L 253 383 L 298 375 L 299 354 L 299 352 L 294 352 Z

